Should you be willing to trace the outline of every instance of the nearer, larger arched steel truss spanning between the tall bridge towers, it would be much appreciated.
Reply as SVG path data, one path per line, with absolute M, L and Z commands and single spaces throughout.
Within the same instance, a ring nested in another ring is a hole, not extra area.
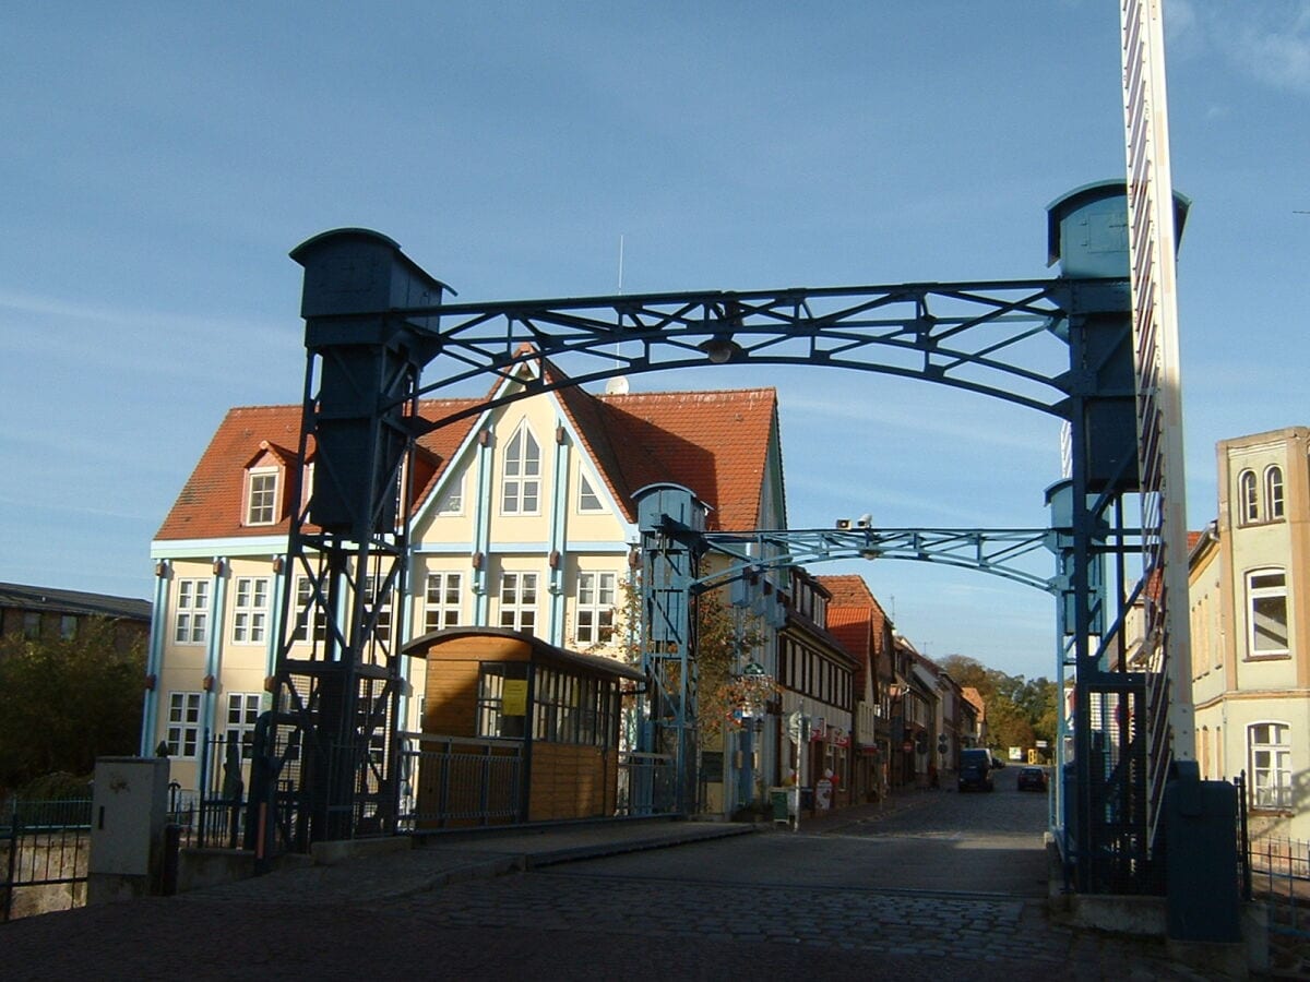
M 512 377 L 538 355 L 567 371 L 559 385 L 709 360 L 876 372 L 1064 418 L 1078 385 L 1062 330 L 1068 313 L 1121 306 L 1127 291 L 1127 280 L 1114 279 L 794 287 L 445 304 L 403 313 L 427 323 L 432 361 L 424 395 L 489 373 Z M 503 402 L 559 385 L 538 381 Z

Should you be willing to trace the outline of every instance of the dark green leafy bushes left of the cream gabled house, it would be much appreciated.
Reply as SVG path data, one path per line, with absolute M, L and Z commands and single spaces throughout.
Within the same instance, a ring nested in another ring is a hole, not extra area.
M 144 674 L 145 642 L 121 649 L 107 619 L 67 639 L 0 639 L 0 790 L 136 753 Z

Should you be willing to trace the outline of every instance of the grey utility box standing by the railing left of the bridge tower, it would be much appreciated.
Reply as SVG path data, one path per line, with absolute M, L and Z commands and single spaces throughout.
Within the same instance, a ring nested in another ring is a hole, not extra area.
M 101 757 L 90 805 L 86 902 L 152 892 L 164 855 L 168 758 Z

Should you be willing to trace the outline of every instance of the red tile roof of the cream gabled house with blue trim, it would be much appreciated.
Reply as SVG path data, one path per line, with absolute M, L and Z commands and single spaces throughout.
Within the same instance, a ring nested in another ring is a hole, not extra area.
M 548 381 L 567 378 L 545 359 L 541 364 Z M 778 439 L 774 389 L 593 395 L 567 386 L 555 394 L 629 521 L 637 517 L 633 491 L 671 481 L 692 488 L 711 505 L 711 529 L 760 525 L 764 481 Z M 470 412 L 483 402 L 423 399 L 419 414 L 424 419 L 443 419 Z M 444 464 L 476 419 L 477 414 L 470 414 L 419 440 L 418 501 L 432 492 Z M 261 441 L 287 448 L 296 446 L 299 439 L 300 406 L 231 410 L 156 539 L 286 534 L 287 508 L 276 525 L 242 525 L 245 467 L 259 453 Z

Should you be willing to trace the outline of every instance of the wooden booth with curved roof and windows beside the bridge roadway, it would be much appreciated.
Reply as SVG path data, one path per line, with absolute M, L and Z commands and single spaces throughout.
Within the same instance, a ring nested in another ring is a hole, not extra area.
M 621 700 L 642 672 L 494 627 L 434 631 L 403 653 L 427 663 L 406 755 L 415 830 L 616 813 Z

